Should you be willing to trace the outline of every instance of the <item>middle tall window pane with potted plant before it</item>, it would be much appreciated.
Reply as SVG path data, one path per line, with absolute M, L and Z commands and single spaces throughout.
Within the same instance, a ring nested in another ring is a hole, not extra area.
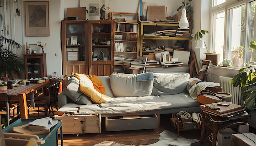
M 231 56 L 233 66 L 243 66 L 243 53 L 245 46 L 245 4 L 229 9 L 229 11 L 229 56 Z

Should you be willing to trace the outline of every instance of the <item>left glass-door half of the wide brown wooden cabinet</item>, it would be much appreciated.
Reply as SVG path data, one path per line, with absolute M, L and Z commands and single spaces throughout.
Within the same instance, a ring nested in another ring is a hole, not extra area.
M 62 20 L 63 75 L 88 74 L 87 21 Z

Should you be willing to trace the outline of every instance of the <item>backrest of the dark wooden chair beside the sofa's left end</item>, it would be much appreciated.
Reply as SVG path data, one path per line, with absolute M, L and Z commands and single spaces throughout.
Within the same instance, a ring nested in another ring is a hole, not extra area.
M 61 80 L 46 87 L 49 95 L 50 104 L 58 104 L 58 90 L 60 88 Z

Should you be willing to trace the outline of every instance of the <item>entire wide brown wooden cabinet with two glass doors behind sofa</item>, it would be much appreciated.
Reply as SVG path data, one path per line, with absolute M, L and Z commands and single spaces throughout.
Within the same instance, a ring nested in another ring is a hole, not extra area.
M 113 20 L 62 20 L 63 75 L 114 71 Z

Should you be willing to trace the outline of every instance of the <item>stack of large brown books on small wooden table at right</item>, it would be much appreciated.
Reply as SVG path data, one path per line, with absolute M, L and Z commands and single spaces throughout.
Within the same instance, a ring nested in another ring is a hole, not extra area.
M 222 102 L 222 103 L 228 103 L 228 102 Z M 218 103 L 213 103 L 213 104 L 205 104 L 205 105 L 200 105 L 200 108 L 202 108 L 203 111 L 211 114 L 211 115 L 216 115 L 220 117 L 231 117 L 234 115 L 238 115 L 240 113 L 245 113 L 246 109 L 244 106 L 238 105 L 238 104 L 229 104 L 229 106 L 218 106 Z M 214 105 L 218 106 L 219 109 L 211 109 L 207 106 Z

